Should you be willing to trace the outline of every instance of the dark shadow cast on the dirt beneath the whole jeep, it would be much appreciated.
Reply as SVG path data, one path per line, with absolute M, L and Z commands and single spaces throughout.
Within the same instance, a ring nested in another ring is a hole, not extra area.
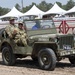
M 3 65 L 3 62 L 0 60 L 0 65 Z M 24 59 L 24 60 L 17 60 L 16 64 L 14 65 L 16 67 L 26 67 L 26 68 L 33 68 L 33 69 L 39 69 L 39 65 L 37 61 L 33 61 L 32 59 Z M 72 65 L 67 62 L 57 62 L 56 68 L 71 68 L 75 67 L 75 65 Z

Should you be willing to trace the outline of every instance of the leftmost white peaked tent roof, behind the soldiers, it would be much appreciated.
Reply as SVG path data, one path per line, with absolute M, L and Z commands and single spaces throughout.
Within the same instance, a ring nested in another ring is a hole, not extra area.
M 15 7 L 13 7 L 10 12 L 8 12 L 7 14 L 5 14 L 3 16 L 0 16 L 0 18 L 4 18 L 4 17 L 19 17 L 21 15 L 23 15 L 23 13 L 21 13 Z

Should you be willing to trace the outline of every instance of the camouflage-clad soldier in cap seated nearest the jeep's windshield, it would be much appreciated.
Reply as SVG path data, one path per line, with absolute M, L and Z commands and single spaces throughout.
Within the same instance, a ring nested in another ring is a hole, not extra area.
M 17 44 L 21 44 L 24 46 L 27 46 L 27 34 L 26 31 L 24 30 L 24 26 L 22 22 L 18 23 L 18 32 L 17 35 L 15 36 L 15 42 Z

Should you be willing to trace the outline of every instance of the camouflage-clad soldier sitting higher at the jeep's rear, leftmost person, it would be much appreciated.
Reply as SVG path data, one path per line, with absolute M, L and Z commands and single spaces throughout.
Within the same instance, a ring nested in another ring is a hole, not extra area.
M 8 34 L 9 38 L 14 38 L 14 36 L 17 33 L 17 27 L 16 27 L 16 25 L 15 25 L 14 22 L 15 22 L 15 19 L 14 18 L 11 18 L 9 20 L 9 25 L 7 25 L 5 27 L 5 31 Z

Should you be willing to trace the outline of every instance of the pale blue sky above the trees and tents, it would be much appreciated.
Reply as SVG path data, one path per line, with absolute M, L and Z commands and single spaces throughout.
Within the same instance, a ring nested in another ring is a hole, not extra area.
M 16 3 L 22 6 L 21 1 L 22 0 L 0 0 L 0 6 L 4 8 L 12 8 L 13 6 L 15 6 Z M 24 7 L 28 6 L 32 4 L 32 2 L 39 4 L 41 1 L 44 1 L 44 0 L 23 0 L 23 6 Z M 52 3 L 52 4 L 54 4 L 56 1 L 61 2 L 62 4 L 66 4 L 68 0 L 45 0 L 45 1 L 47 3 Z

